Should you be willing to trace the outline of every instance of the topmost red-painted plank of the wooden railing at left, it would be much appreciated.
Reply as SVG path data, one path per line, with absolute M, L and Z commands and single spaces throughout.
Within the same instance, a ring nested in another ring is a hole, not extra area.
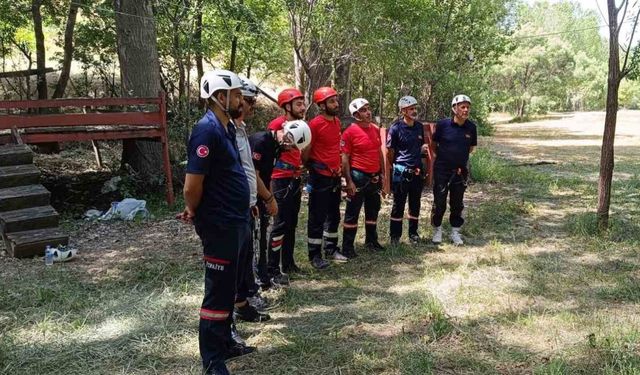
M 156 98 L 73 98 L 49 100 L 6 100 L 0 101 L 0 109 L 61 108 L 61 107 L 104 107 L 123 105 L 160 104 Z

